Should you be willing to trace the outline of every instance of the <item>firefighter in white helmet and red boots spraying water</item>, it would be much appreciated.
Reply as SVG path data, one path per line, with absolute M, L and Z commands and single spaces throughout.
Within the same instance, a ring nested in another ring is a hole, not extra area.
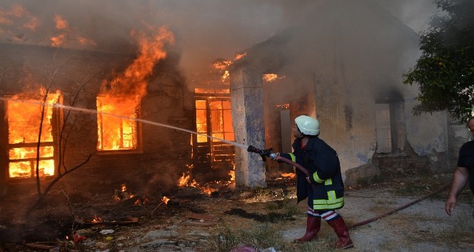
M 338 154 L 319 136 L 319 121 L 313 117 L 301 115 L 296 117 L 293 125 L 293 153 L 279 154 L 286 159 L 308 169 L 310 176 L 296 169 L 296 193 L 298 203 L 308 198 L 306 233 L 295 242 L 306 242 L 316 239 L 321 228 L 321 218 L 336 232 L 339 241 L 336 248 L 352 248 L 348 227 L 336 209 L 344 206 L 344 184 L 341 176 L 341 165 Z M 276 158 L 273 158 L 276 159 Z

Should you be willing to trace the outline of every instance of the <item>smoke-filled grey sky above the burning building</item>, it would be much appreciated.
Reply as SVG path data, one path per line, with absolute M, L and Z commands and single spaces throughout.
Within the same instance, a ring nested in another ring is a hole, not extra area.
M 189 74 L 216 58 L 232 59 L 325 1 L 331 0 L 2 0 L 0 43 L 113 51 L 134 43 L 131 31 L 168 26 Z M 372 1 L 416 32 L 436 10 L 433 0 Z

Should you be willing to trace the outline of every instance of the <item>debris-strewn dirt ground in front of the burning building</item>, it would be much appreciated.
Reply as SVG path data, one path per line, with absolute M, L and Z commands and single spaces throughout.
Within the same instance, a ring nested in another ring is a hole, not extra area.
M 348 188 L 346 206 L 339 212 L 349 225 L 358 224 L 410 204 L 449 180 L 445 174 Z M 347 251 L 474 251 L 474 196 L 463 191 L 453 216 L 448 216 L 446 193 L 351 229 L 355 247 Z M 296 205 L 293 182 L 269 183 L 267 189 L 221 188 L 211 195 L 181 188 L 122 201 L 112 194 L 56 191 L 29 219 L 17 206 L 33 196 L 1 199 L 0 251 L 231 251 L 222 245 L 224 240 L 258 251 L 329 251 L 328 244 L 336 239 L 323 223 L 313 248 L 281 246 L 306 228 L 306 202 Z M 92 222 L 94 216 L 101 221 Z M 282 241 L 257 241 L 258 231 L 251 232 L 262 227 L 276 230 Z M 86 239 L 74 243 L 73 231 Z M 233 237 L 239 232 L 251 237 Z

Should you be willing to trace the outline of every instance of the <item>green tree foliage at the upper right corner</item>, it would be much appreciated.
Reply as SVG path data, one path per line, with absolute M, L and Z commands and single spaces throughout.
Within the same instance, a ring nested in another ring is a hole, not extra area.
M 436 0 L 442 14 L 420 34 L 422 55 L 403 83 L 420 85 L 415 115 L 448 110 L 466 121 L 474 107 L 474 1 Z

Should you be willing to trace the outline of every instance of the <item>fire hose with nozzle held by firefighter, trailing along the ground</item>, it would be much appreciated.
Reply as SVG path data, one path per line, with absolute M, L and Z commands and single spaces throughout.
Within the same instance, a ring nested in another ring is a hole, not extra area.
M 248 147 L 248 149 L 247 149 L 248 152 L 255 152 L 255 153 L 260 154 L 261 157 L 262 157 L 262 159 L 263 159 L 263 162 L 266 162 L 266 157 L 271 157 L 272 159 L 280 160 L 280 161 L 282 161 L 282 162 L 286 162 L 287 164 L 293 165 L 294 167 L 296 167 L 296 169 L 299 169 L 301 172 L 303 172 L 304 174 L 306 174 L 306 177 L 309 177 L 309 176 L 311 175 L 310 172 L 308 171 L 308 169 L 306 169 L 305 167 L 301 166 L 300 164 L 297 164 L 296 162 L 291 161 L 290 159 L 286 159 L 286 158 L 284 158 L 284 157 L 280 157 L 280 156 L 276 155 L 275 153 L 271 153 L 272 150 L 273 150 L 273 148 L 269 148 L 269 149 L 258 149 L 258 148 L 256 148 L 256 147 L 253 147 L 252 145 L 250 145 L 250 146 Z M 312 183 L 311 183 L 311 185 L 313 186 L 313 189 L 316 188 L 316 184 L 312 184 Z M 420 197 L 419 199 L 416 199 L 416 200 L 414 200 L 414 201 L 411 201 L 411 202 L 408 203 L 408 204 L 405 204 L 405 205 L 403 205 L 403 206 L 399 206 L 399 207 L 396 208 L 396 209 L 387 211 L 387 212 L 385 212 L 385 213 L 383 213 L 383 214 L 380 214 L 379 216 L 375 216 L 375 217 L 373 217 L 373 218 L 371 218 L 371 219 L 367 219 L 367 220 L 365 220 L 365 221 L 359 221 L 359 222 L 357 222 L 357 223 L 355 223 L 355 224 L 349 225 L 348 228 L 349 228 L 349 229 L 353 229 L 353 228 L 356 228 L 356 227 L 358 227 L 358 226 L 363 226 L 363 225 L 365 225 L 365 224 L 369 224 L 370 222 L 376 221 L 376 220 L 378 220 L 378 219 L 380 219 L 380 218 L 383 218 L 383 217 L 385 217 L 385 216 L 389 216 L 390 214 L 393 214 L 393 213 L 395 213 L 395 212 L 397 212 L 397 211 L 400 211 L 400 210 L 402 210 L 402 209 L 405 209 L 405 208 L 407 208 L 408 206 L 412 206 L 413 204 L 416 204 L 416 203 L 422 201 L 423 199 L 427 199 L 427 198 L 430 197 L 430 196 L 433 196 L 433 195 L 435 195 L 435 194 L 438 194 L 440 191 L 443 191 L 443 190 L 445 190 L 446 188 L 448 188 L 449 185 L 450 185 L 450 183 L 445 184 L 443 187 L 440 187 L 439 189 L 437 189 L 437 190 L 431 192 L 430 194 L 426 194 L 425 196 L 422 196 L 422 197 Z

